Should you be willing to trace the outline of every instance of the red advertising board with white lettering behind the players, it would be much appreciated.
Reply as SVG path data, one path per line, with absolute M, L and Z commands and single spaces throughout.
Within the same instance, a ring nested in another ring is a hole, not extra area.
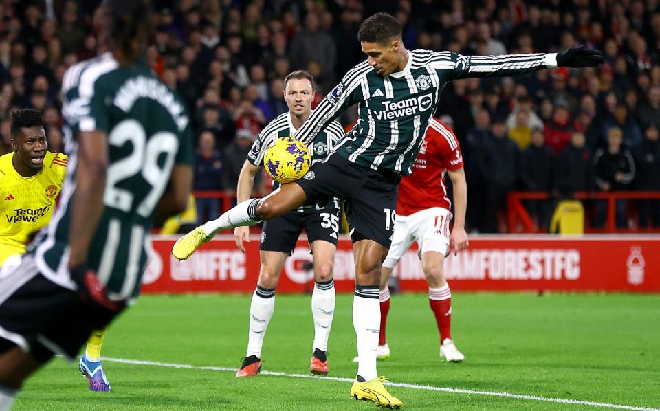
M 170 251 L 177 237 L 155 236 L 144 274 L 144 293 L 252 293 L 259 277 L 259 236 L 236 249 L 220 234 L 188 260 Z M 401 291 L 427 291 L 416 245 L 395 275 Z M 278 293 L 311 292 L 309 246 L 300 239 L 287 258 Z M 660 292 L 660 236 L 653 234 L 472 236 L 470 249 L 451 254 L 445 273 L 454 291 Z M 353 247 L 342 237 L 334 265 L 338 292 L 353 292 Z

